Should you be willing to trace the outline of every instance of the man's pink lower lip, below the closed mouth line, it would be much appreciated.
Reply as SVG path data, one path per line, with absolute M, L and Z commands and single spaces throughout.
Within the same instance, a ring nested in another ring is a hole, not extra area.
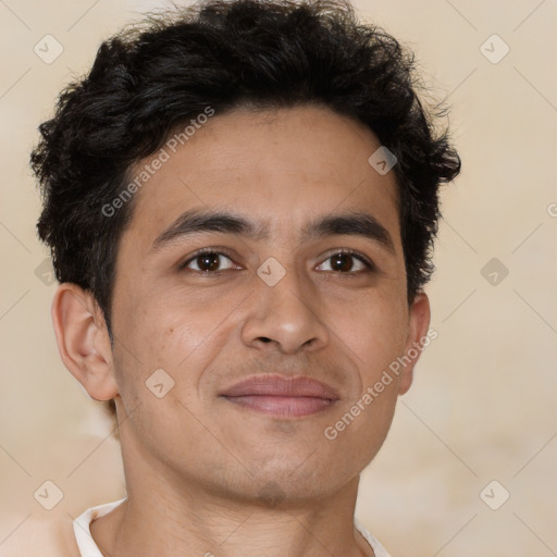
M 235 405 L 278 417 L 310 416 L 330 408 L 334 400 L 310 396 L 246 395 L 224 397 Z

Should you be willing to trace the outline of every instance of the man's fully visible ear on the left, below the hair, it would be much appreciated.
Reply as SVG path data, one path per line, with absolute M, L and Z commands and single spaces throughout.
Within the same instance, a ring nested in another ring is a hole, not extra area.
M 52 323 L 64 366 L 96 400 L 117 395 L 112 347 L 101 309 L 92 294 L 62 283 L 52 300 Z

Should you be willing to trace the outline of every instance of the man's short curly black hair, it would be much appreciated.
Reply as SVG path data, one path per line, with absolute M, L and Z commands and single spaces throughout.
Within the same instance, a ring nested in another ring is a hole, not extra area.
M 39 126 L 37 230 L 58 281 L 94 295 L 112 342 L 116 251 L 134 203 L 111 216 L 102 208 L 134 164 L 207 107 L 218 115 L 312 103 L 368 126 L 396 156 L 411 304 L 434 270 L 438 186 L 460 172 L 448 127 L 437 131 L 447 109 L 426 107 L 420 89 L 413 53 L 360 23 L 349 0 L 209 0 L 148 14 L 101 44 Z

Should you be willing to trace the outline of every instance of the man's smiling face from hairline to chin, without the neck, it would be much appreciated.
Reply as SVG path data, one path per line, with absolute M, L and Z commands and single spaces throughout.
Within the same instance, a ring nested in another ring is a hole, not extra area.
M 425 296 L 407 304 L 394 172 L 368 162 L 380 145 L 348 117 L 298 107 L 216 114 L 166 147 L 116 261 L 125 460 L 238 498 L 272 482 L 292 499 L 332 493 L 370 462 L 413 362 L 362 397 L 429 325 Z M 184 213 L 214 212 L 245 223 L 184 220 L 180 232 Z M 223 396 L 253 376 L 310 377 L 330 396 Z

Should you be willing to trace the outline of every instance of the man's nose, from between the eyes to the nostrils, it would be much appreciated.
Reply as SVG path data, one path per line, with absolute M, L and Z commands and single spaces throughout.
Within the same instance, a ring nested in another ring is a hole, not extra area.
M 288 269 L 274 286 L 255 277 L 249 311 L 242 329 L 243 342 L 258 349 L 284 354 L 319 350 L 327 345 L 330 331 L 320 315 L 319 294 L 310 281 Z

